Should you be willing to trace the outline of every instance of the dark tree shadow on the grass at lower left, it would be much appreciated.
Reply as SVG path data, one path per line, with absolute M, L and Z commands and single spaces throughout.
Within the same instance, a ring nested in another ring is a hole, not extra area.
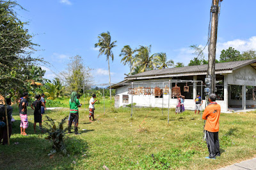
M 83 158 L 89 157 L 87 142 L 76 137 L 64 139 L 69 156 L 55 153 L 49 157 L 52 143 L 44 139 L 45 137 L 42 134 L 12 135 L 10 146 L 0 145 L 0 169 L 74 169 L 73 160 L 76 165 L 83 164 Z

